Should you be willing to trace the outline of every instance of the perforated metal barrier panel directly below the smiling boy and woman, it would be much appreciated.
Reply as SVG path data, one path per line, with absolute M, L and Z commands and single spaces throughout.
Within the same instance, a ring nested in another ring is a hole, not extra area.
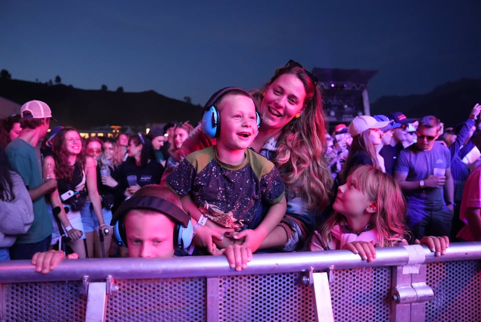
M 219 278 L 219 321 L 314 321 L 312 288 L 299 273 Z

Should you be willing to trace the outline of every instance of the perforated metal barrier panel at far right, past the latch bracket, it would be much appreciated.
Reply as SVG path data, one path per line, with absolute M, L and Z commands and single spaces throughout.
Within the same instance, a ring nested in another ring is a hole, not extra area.
M 426 321 L 481 321 L 481 261 L 431 263 L 426 270 L 434 290 Z

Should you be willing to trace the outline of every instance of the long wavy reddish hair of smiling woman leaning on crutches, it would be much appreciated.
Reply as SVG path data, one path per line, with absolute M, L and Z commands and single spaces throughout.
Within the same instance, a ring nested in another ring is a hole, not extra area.
M 57 179 L 64 179 L 66 182 L 72 182 L 74 174 L 74 167 L 70 167 L 68 164 L 69 153 L 67 152 L 67 140 L 65 139 L 65 134 L 69 131 L 79 133 L 79 131 L 73 127 L 64 127 L 57 135 L 55 135 L 52 144 L 52 150 L 54 151 L 53 157 L 55 160 L 55 177 Z M 81 152 L 75 159 L 75 165 L 79 166 L 80 169 L 83 169 L 84 164 L 85 154 L 83 153 L 83 149 L 81 149 Z

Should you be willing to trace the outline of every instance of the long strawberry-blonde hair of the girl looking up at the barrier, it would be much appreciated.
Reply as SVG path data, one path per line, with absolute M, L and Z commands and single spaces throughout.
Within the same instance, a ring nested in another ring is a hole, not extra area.
M 349 177 L 355 187 L 376 203 L 376 212 L 372 215 L 370 224 L 379 233 L 379 246 L 393 246 L 408 237 L 404 222 L 406 206 L 401 188 L 394 178 L 373 166 L 358 166 Z M 332 241 L 331 231 L 334 226 L 344 219 L 343 214 L 335 212 L 326 220 L 321 228 L 322 239 L 326 245 Z

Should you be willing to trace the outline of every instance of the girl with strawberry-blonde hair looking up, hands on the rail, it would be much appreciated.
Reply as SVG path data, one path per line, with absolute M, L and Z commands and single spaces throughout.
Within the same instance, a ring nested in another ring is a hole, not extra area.
M 376 257 L 375 246 L 407 245 L 405 205 L 396 181 L 373 166 L 356 167 L 338 188 L 335 213 L 314 232 L 310 250 L 349 249 L 362 259 Z M 445 254 L 449 239 L 425 237 L 421 241 L 436 256 Z

